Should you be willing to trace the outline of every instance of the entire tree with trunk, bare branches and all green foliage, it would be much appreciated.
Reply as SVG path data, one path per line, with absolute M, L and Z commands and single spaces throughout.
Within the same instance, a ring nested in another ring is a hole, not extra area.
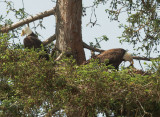
M 103 51 L 82 41 L 82 0 L 57 0 L 55 8 L 29 18 L 26 18 L 24 8 L 16 10 L 12 7 L 12 2 L 4 2 L 8 5 L 8 12 L 13 11 L 17 18 L 23 20 L 13 24 L 11 20 L 1 17 L 1 21 L 5 21 L 0 33 L 1 116 L 50 117 L 67 114 L 69 117 L 93 117 L 100 112 L 106 116 L 112 112 L 115 116 L 159 115 L 158 59 L 152 61 L 153 64 L 148 67 L 147 72 L 135 68 L 108 70 L 111 66 L 103 63 L 99 65 L 94 60 L 89 65 L 80 65 L 85 60 L 83 47 Z M 95 0 L 91 7 L 101 3 L 108 4 L 108 1 Z M 118 20 L 123 8 L 127 9 L 129 15 L 127 21 L 130 25 L 121 25 L 124 27 L 124 40 L 121 41 L 136 44 L 138 40 L 141 43 L 139 34 L 144 29 L 146 36 L 143 41 L 147 44 L 144 43 L 141 49 L 146 49 L 149 56 L 150 49 L 159 45 L 159 19 L 155 6 L 157 2 L 111 0 L 110 4 L 111 9 L 106 11 L 112 20 Z M 83 10 L 85 12 L 85 8 Z M 37 53 L 23 49 L 19 44 L 9 44 L 20 26 L 49 15 L 56 16 L 56 34 L 44 41 L 43 45 L 46 46 L 56 39 L 56 48 L 67 57 L 62 57 L 61 60 L 38 60 L 41 51 Z M 90 23 L 93 26 L 96 24 Z M 151 60 L 144 57 L 134 58 Z

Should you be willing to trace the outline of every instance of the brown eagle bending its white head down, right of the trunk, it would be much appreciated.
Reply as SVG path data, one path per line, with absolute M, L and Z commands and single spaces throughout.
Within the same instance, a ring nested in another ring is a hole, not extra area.
M 123 48 L 105 50 L 101 54 L 94 56 L 93 59 L 98 59 L 100 63 L 105 63 L 106 66 L 112 65 L 117 70 L 122 61 L 129 61 L 130 66 L 134 64 L 132 55 Z M 87 60 L 84 64 L 89 63 L 90 60 Z

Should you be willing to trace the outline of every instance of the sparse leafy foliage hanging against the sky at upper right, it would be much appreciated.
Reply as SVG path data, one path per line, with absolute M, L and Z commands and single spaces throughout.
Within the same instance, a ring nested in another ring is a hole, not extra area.
M 106 9 L 111 20 L 119 21 L 122 14 L 127 22 L 120 24 L 124 32 L 120 42 L 134 45 L 135 50 L 142 50 L 146 56 L 159 52 L 159 3 L 156 0 L 111 0 Z

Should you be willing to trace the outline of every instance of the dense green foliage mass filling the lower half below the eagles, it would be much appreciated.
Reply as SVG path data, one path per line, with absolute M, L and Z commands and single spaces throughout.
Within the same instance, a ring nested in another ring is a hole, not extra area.
M 4 37 L 1 43 L 7 43 Z M 159 70 L 144 75 L 132 68 L 109 69 L 98 61 L 77 66 L 72 58 L 39 60 L 40 53 L 7 44 L 0 50 L 2 117 L 46 115 L 53 110 L 55 116 L 55 112 L 64 115 L 76 110 L 88 117 L 111 111 L 154 116 L 160 110 Z

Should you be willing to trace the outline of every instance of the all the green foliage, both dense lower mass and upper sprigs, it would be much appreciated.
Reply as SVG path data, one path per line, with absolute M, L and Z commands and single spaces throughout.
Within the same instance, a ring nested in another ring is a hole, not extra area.
M 95 5 L 106 1 L 95 0 Z M 17 19 L 27 16 L 24 8 L 16 10 L 12 2 L 5 2 L 6 14 L 14 12 Z M 118 20 L 122 10 L 116 11 L 119 5 L 127 8 L 130 24 L 121 25 L 125 29 L 121 41 L 134 45 L 137 41 L 143 42 L 141 49 L 146 50 L 158 46 L 159 19 L 154 2 L 144 5 L 139 0 L 113 0 L 112 10 L 106 10 L 111 20 Z M 4 16 L 0 16 L 0 21 L 6 25 L 13 23 Z M 38 26 L 44 28 L 41 20 Z M 138 30 L 141 27 L 145 28 L 146 34 L 143 41 Z M 23 49 L 21 44 L 9 45 L 9 39 L 15 37 L 14 33 L 0 35 L 0 116 L 44 116 L 49 113 L 56 116 L 76 111 L 82 117 L 92 117 L 99 112 L 106 115 L 114 112 L 116 116 L 159 115 L 159 60 L 148 66 L 152 74 L 133 68 L 116 71 L 98 61 L 77 66 L 72 58 L 46 61 L 39 59 L 44 51 Z M 100 47 L 102 40 L 108 38 L 96 38 L 96 47 Z

